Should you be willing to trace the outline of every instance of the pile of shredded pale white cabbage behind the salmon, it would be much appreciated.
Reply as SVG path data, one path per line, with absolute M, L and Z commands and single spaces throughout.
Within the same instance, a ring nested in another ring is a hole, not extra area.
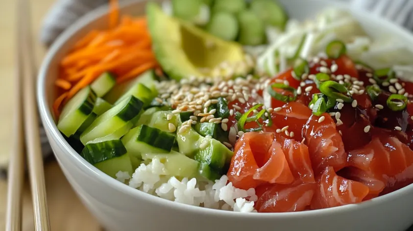
M 391 35 L 373 41 L 346 11 L 328 9 L 312 21 L 290 20 L 284 32 L 267 29 L 267 38 L 270 44 L 264 51 L 261 52 L 263 47 L 255 49 L 261 53 L 256 67 L 261 74 L 274 76 L 296 58 L 308 59 L 323 53 L 326 45 L 337 39 L 346 44 L 353 60 L 373 68 L 393 67 L 413 78 L 413 50 Z

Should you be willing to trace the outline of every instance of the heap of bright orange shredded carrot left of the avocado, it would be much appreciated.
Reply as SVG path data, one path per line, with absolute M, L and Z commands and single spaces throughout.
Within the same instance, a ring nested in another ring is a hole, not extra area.
M 159 67 L 151 49 L 146 17 L 119 18 L 118 0 L 110 0 L 108 18 L 109 29 L 90 31 L 60 62 L 60 74 L 54 84 L 63 94 L 53 104 L 56 116 L 62 105 L 103 72 L 114 73 L 117 83 L 122 83 Z

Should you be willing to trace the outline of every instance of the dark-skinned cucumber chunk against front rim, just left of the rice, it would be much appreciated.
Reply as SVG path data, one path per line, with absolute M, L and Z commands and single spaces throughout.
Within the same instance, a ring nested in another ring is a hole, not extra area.
M 81 156 L 113 178 L 119 171 L 127 171 L 132 174 L 132 164 L 121 140 L 87 144 L 83 148 Z

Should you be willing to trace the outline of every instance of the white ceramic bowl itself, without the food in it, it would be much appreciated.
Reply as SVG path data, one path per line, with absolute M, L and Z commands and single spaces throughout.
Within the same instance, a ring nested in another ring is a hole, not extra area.
M 330 0 L 281 0 L 292 18 L 313 17 Z M 143 1 L 122 6 L 122 13 L 143 14 Z M 413 223 L 413 185 L 357 205 L 292 213 L 239 213 L 187 206 L 132 189 L 86 162 L 64 140 L 50 108 L 58 63 L 74 42 L 92 28 L 107 25 L 107 7 L 80 19 L 50 48 L 39 74 L 41 118 L 63 172 L 87 208 L 109 231 L 404 231 Z M 394 36 L 413 44 L 413 35 L 388 21 L 353 12 L 368 34 Z

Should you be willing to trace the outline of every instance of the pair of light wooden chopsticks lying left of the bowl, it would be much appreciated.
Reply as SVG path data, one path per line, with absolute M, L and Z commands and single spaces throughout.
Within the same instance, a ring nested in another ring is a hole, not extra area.
M 28 0 L 17 0 L 16 22 L 15 121 L 13 152 L 8 169 L 6 231 L 21 231 L 22 229 L 24 150 L 27 153 L 35 230 L 49 231 L 49 213 L 35 91 L 36 68 Z

